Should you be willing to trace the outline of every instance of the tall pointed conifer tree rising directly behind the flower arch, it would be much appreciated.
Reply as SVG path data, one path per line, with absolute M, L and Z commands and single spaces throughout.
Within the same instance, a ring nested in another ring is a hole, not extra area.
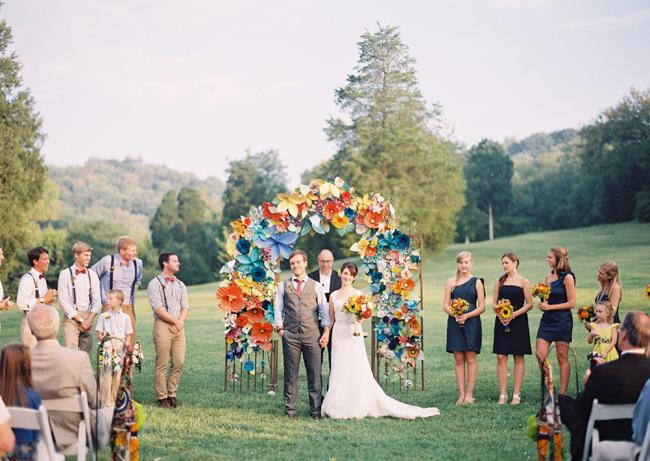
M 453 238 L 463 205 L 456 146 L 439 136 L 439 107 L 422 97 L 415 60 L 397 28 L 365 32 L 358 48 L 354 72 L 336 90 L 349 119 L 330 118 L 325 129 L 338 151 L 303 179 L 340 176 L 362 192 L 382 193 L 400 225 L 423 230 L 427 245 L 439 250 Z

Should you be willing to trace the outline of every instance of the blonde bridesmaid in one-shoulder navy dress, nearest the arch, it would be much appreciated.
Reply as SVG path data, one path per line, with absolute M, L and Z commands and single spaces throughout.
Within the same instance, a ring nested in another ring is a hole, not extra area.
M 451 300 L 462 298 L 470 307 L 458 318 L 451 315 Z M 445 283 L 442 302 L 447 319 L 447 352 L 454 354 L 458 400 L 456 405 L 474 403 L 474 386 L 478 365 L 476 355 L 481 352 L 481 318 L 485 311 L 485 288 L 483 281 L 472 275 L 472 254 L 461 251 L 456 256 L 456 276 Z M 467 386 L 465 386 L 467 377 Z

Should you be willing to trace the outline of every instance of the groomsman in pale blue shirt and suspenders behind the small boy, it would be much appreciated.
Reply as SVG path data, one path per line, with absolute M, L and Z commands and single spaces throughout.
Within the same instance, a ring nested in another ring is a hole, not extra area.
M 142 260 L 138 259 L 138 248 L 133 238 L 122 236 L 117 239 L 117 253 L 106 255 L 91 268 L 99 276 L 103 310 L 106 308 L 106 294 L 120 290 L 124 294 L 122 312 L 131 318 L 135 341 L 135 289 L 142 281 Z

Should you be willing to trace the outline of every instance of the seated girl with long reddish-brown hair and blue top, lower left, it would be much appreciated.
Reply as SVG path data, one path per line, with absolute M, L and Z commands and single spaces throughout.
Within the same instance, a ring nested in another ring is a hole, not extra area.
M 9 344 L 0 352 L 0 395 L 12 407 L 38 410 L 41 396 L 32 389 L 32 360 L 29 348 Z M 36 459 L 39 431 L 15 429 L 16 445 L 11 459 Z

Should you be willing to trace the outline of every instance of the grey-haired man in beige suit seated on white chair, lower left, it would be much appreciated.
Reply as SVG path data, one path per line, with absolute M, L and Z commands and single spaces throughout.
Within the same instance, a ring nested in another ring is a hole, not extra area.
M 32 350 L 34 389 L 43 399 L 72 397 L 86 391 L 89 407 L 95 408 L 97 387 L 90 358 L 83 351 L 59 344 L 56 335 L 61 319 L 57 311 L 52 306 L 36 304 L 27 319 L 38 341 Z M 48 412 L 48 415 L 57 451 L 67 453 L 73 450 L 77 443 L 81 415 L 59 411 Z M 94 421 L 92 415 L 91 420 Z

